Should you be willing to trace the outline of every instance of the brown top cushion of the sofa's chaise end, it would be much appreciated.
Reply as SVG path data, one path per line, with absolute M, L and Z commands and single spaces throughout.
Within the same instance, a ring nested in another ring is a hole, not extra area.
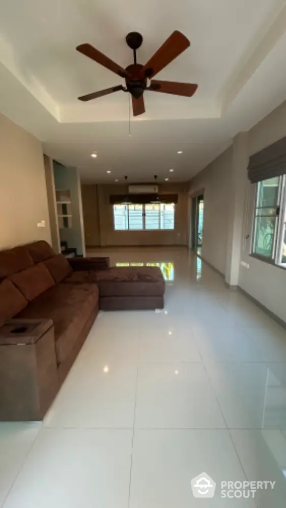
M 95 273 L 100 296 L 163 296 L 165 282 L 157 266 L 119 266 Z

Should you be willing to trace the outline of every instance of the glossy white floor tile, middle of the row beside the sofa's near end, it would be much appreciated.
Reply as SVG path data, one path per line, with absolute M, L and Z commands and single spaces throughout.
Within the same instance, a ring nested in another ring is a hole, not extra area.
M 204 366 L 201 363 L 140 364 L 135 426 L 225 428 Z

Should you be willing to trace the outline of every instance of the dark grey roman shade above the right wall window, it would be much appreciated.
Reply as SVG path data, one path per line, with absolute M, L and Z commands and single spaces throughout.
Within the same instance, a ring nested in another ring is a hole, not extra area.
M 286 138 L 267 146 L 249 158 L 248 178 L 257 183 L 286 174 Z

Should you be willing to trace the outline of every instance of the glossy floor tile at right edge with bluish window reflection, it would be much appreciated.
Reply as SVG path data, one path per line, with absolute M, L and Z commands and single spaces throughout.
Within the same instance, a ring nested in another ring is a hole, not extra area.
M 206 369 L 229 428 L 286 429 L 286 364 L 209 363 Z

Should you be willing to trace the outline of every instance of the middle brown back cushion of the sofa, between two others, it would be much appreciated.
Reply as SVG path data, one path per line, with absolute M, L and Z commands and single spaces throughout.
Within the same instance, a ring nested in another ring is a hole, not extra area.
M 9 276 L 9 279 L 28 302 L 32 302 L 34 298 L 54 285 L 54 280 L 44 263 L 39 263 L 22 272 L 14 273 L 14 275 Z

